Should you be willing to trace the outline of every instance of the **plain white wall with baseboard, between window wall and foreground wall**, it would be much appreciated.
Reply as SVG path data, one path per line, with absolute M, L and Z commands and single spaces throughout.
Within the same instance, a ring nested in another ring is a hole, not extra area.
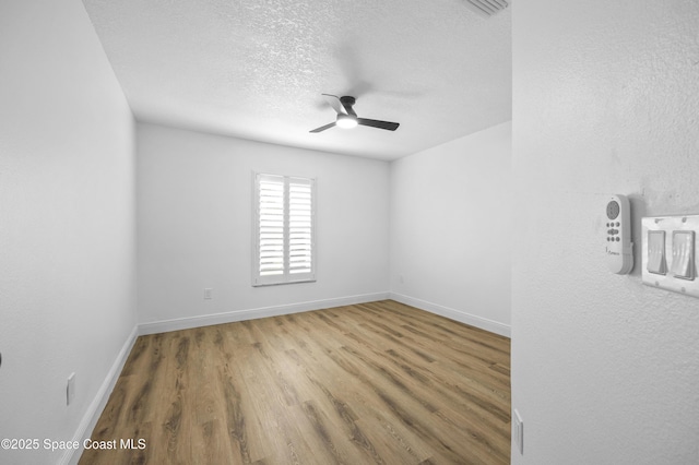
M 511 123 L 391 165 L 396 300 L 509 335 Z

